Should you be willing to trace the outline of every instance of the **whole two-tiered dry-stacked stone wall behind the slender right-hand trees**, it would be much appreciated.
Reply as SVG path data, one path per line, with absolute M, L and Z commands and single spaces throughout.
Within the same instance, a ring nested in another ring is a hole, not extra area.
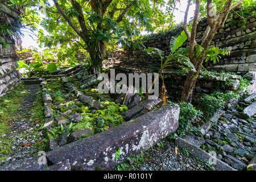
M 230 15 L 226 21 L 225 28 L 218 30 L 210 46 L 221 49 L 228 49 L 229 55 L 222 56 L 220 62 L 204 63 L 207 70 L 236 72 L 237 75 L 200 75 L 196 88 L 193 91 L 194 99 L 202 94 L 210 94 L 214 91 L 223 92 L 225 90 L 236 91 L 240 85 L 241 76 L 246 75 L 246 79 L 251 82 L 247 88 L 250 93 L 256 90 L 256 21 L 255 15 L 247 17 L 245 27 L 242 27 L 242 19 Z M 207 20 L 202 19 L 197 26 L 196 42 L 200 43 L 203 33 L 207 28 Z M 142 40 L 144 46 L 162 49 L 165 56 L 170 54 L 170 40 L 179 35 L 183 27 L 179 26 L 175 30 L 155 34 Z M 183 47 L 188 46 L 188 42 Z M 114 60 L 119 60 L 121 64 L 114 66 L 116 73 L 133 73 L 138 69 L 141 72 L 157 72 L 156 68 L 161 65 L 159 57 L 152 58 L 143 50 L 135 47 L 126 47 L 123 51 L 117 50 L 112 55 Z M 171 100 L 179 100 L 183 90 L 185 74 L 176 72 L 164 73 L 164 83 L 167 87 Z M 240 92 L 244 92 L 241 90 Z

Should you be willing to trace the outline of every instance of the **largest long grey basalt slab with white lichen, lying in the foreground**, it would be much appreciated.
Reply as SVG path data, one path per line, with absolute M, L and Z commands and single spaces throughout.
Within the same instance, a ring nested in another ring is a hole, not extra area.
M 174 133 L 179 125 L 179 113 L 177 105 L 163 106 L 108 131 L 56 148 L 46 154 L 47 160 L 57 164 L 69 159 L 71 168 L 77 170 L 112 169 L 131 154 L 147 150 Z

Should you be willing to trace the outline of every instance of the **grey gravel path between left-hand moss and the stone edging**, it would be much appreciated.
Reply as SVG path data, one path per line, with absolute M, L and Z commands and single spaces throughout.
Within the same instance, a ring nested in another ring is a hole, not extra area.
M 10 132 L 0 141 L 11 141 L 9 143 L 11 152 L 0 154 L 0 158 L 5 158 L 0 162 L 0 166 L 5 166 L 18 159 L 30 158 L 42 150 L 40 144 L 42 143 L 43 133 L 39 131 L 39 128 L 43 119 L 38 120 L 40 111 L 33 109 L 38 105 L 38 103 L 35 103 L 38 88 L 39 85 L 24 86 L 24 90 L 27 90 L 28 94 L 24 97 L 19 109 L 15 111 L 15 117 L 10 118 Z M 19 91 L 22 92 L 23 90 Z

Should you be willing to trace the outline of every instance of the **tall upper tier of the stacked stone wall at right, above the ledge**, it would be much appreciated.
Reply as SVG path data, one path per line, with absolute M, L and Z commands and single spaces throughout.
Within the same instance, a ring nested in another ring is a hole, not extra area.
M 232 18 L 236 21 L 232 24 Z M 256 21 L 255 15 L 247 17 L 245 28 L 241 27 L 242 19 L 238 17 L 232 17 L 226 21 L 225 28 L 218 30 L 214 36 L 210 46 L 216 46 L 222 49 L 228 49 L 230 52 L 229 56 L 222 56 L 219 63 L 207 63 L 205 68 L 216 71 L 230 71 L 238 73 L 246 73 L 248 71 L 256 71 Z M 201 38 L 205 29 L 207 28 L 207 20 L 202 19 L 197 26 L 197 43 L 201 42 Z M 170 53 L 170 40 L 171 38 L 180 34 L 183 31 L 182 27 L 177 27 L 175 30 L 164 32 L 162 34 L 155 34 L 150 38 L 142 40 L 144 46 L 155 47 L 162 49 L 165 55 L 168 56 Z M 184 45 L 188 46 L 188 42 Z M 160 67 L 161 60 L 159 58 L 152 58 L 146 55 L 146 52 L 126 47 L 124 51 L 115 51 L 112 55 L 115 59 L 121 60 L 126 64 L 127 67 L 137 68 L 150 68 L 154 69 Z

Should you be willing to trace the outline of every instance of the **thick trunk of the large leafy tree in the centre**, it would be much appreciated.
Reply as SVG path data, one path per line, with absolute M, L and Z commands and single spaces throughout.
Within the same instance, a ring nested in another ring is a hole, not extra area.
M 106 46 L 103 42 L 98 42 L 96 46 L 90 47 L 88 49 L 91 64 L 93 66 L 92 72 L 96 75 L 101 73 L 102 61 L 104 60 L 104 56 L 106 54 Z

